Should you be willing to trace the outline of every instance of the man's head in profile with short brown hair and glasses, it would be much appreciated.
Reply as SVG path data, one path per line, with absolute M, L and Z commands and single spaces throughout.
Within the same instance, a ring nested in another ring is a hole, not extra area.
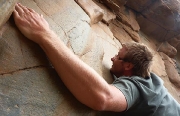
M 111 60 L 113 62 L 111 73 L 119 76 L 141 76 L 146 77 L 150 74 L 150 65 L 153 55 L 150 50 L 139 43 L 125 43 L 118 55 Z

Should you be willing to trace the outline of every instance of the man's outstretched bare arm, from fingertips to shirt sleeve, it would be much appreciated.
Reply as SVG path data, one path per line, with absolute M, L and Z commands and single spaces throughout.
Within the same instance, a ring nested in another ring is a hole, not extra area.
M 80 102 L 95 110 L 120 112 L 127 108 L 122 92 L 74 55 L 42 16 L 17 4 L 14 20 L 27 38 L 42 47 L 61 80 Z

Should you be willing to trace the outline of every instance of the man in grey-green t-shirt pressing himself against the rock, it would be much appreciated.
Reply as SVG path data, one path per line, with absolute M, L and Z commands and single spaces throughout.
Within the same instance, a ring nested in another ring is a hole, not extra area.
M 149 73 L 152 55 L 147 47 L 124 44 L 111 59 L 110 71 L 118 78 L 108 84 L 64 45 L 42 15 L 19 3 L 13 15 L 19 30 L 41 46 L 61 80 L 81 103 L 94 110 L 122 112 L 127 116 L 180 115 L 179 104 L 161 80 Z

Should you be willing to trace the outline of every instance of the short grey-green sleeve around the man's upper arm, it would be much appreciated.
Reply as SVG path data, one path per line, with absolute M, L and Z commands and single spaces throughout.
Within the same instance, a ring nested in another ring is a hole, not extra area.
M 118 78 L 113 82 L 125 96 L 128 107 L 126 110 L 135 105 L 140 100 L 140 93 L 136 84 L 130 78 Z

